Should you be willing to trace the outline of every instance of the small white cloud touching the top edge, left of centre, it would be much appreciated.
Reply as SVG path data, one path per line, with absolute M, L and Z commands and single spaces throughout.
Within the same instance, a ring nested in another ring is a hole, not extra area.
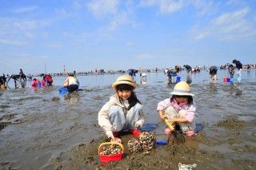
M 115 14 L 118 11 L 118 0 L 93 0 L 87 8 L 97 17 L 106 14 Z

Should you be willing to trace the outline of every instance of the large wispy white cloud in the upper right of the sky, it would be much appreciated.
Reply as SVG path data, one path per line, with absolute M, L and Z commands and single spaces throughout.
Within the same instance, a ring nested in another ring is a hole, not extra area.
M 205 27 L 196 26 L 192 31 L 194 39 L 211 37 L 220 40 L 234 40 L 255 35 L 254 25 L 246 20 L 246 15 L 249 12 L 250 10 L 245 7 L 232 13 L 222 14 L 211 20 Z

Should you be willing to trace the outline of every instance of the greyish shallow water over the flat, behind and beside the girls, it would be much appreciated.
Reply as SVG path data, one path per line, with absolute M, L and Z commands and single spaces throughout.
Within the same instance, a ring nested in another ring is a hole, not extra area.
M 218 71 L 218 84 L 210 85 L 208 73 L 202 71 L 192 77 L 191 89 L 195 94 L 194 104 L 199 115 L 198 123 L 204 125 L 202 131 L 216 139 L 226 140 L 222 128 L 214 128 L 218 121 L 226 117 L 238 117 L 244 122 L 242 144 L 256 144 L 256 71 L 242 72 L 242 82 L 223 83 L 226 70 Z M 8 164 L 11 168 L 46 168 L 54 157 L 68 152 L 78 143 L 103 136 L 98 126 L 98 111 L 114 93 L 111 83 L 119 75 L 79 76 L 80 89 L 77 93 L 63 97 L 58 88 L 65 77 L 54 77 L 54 85 L 34 91 L 30 81 L 26 88 L 10 89 L 0 92 L 0 122 L 7 122 L 0 128 L 0 168 Z M 181 73 L 182 80 L 185 73 Z M 146 84 L 135 77 L 138 89 L 135 92 L 144 105 L 146 123 L 158 125 L 161 134 L 164 125 L 158 118 L 156 107 L 159 101 L 170 97 L 174 85 L 167 85 L 163 73 L 147 73 Z M 255 159 L 254 152 L 235 152 L 228 144 L 199 147 L 210 151 L 224 152 L 230 157 Z

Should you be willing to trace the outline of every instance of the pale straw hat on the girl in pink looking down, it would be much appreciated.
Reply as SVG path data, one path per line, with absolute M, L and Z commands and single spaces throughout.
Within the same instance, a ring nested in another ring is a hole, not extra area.
M 194 97 L 194 94 L 191 93 L 190 85 L 185 81 L 180 81 L 174 86 L 174 91 L 171 92 L 172 95 L 178 96 L 191 96 Z

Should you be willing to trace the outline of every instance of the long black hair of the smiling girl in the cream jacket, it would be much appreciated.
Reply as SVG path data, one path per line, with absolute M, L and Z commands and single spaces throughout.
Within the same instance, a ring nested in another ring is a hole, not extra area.
M 131 85 L 126 85 L 126 84 L 121 84 L 121 85 L 117 85 L 116 87 L 116 91 L 123 91 L 123 90 L 130 90 L 131 91 L 131 95 L 128 98 L 128 103 L 129 103 L 129 107 L 128 110 L 130 110 L 132 107 L 134 107 L 134 105 L 136 105 L 137 103 L 142 104 L 140 101 L 138 101 L 138 98 L 136 96 L 136 94 L 133 91 L 133 87 Z M 121 101 L 122 99 L 119 97 L 119 100 Z

